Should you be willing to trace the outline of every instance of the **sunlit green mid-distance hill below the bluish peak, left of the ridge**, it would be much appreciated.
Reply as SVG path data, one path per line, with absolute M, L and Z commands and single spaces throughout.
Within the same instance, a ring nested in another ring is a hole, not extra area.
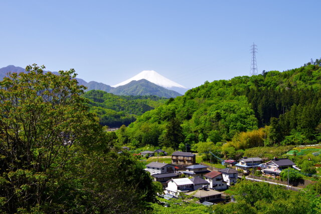
M 117 96 L 100 90 L 91 90 L 84 95 L 88 99 L 90 112 L 95 113 L 101 125 L 120 127 L 129 125 L 137 115 L 154 109 L 167 101 L 150 96 Z

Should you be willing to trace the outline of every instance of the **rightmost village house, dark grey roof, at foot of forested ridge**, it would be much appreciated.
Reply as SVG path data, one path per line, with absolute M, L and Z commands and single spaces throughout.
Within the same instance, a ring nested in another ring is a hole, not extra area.
M 289 168 L 296 168 L 295 163 L 293 163 L 292 160 L 289 160 L 287 158 L 274 158 L 273 160 L 270 160 L 266 162 L 264 169 L 262 169 L 262 174 L 268 177 L 279 177 L 282 169 Z

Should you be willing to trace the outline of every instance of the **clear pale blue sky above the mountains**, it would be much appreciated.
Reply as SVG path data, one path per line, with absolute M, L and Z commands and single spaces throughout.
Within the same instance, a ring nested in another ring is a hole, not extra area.
M 321 1 L 0 0 L 0 67 L 74 68 L 108 85 L 154 70 L 186 87 L 321 57 Z

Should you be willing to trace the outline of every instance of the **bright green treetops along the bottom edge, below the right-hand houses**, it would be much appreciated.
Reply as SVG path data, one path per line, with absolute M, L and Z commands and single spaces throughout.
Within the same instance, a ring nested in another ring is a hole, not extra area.
M 314 213 L 310 198 L 303 192 L 246 180 L 232 188 L 236 203 L 215 205 L 215 213 Z

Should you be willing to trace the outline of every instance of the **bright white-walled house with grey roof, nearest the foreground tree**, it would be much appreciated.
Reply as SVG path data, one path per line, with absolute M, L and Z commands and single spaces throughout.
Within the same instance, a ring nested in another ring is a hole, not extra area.
M 166 194 L 179 197 L 181 192 L 189 192 L 194 190 L 194 183 L 187 177 L 176 178 L 167 181 L 167 187 L 165 188 Z

